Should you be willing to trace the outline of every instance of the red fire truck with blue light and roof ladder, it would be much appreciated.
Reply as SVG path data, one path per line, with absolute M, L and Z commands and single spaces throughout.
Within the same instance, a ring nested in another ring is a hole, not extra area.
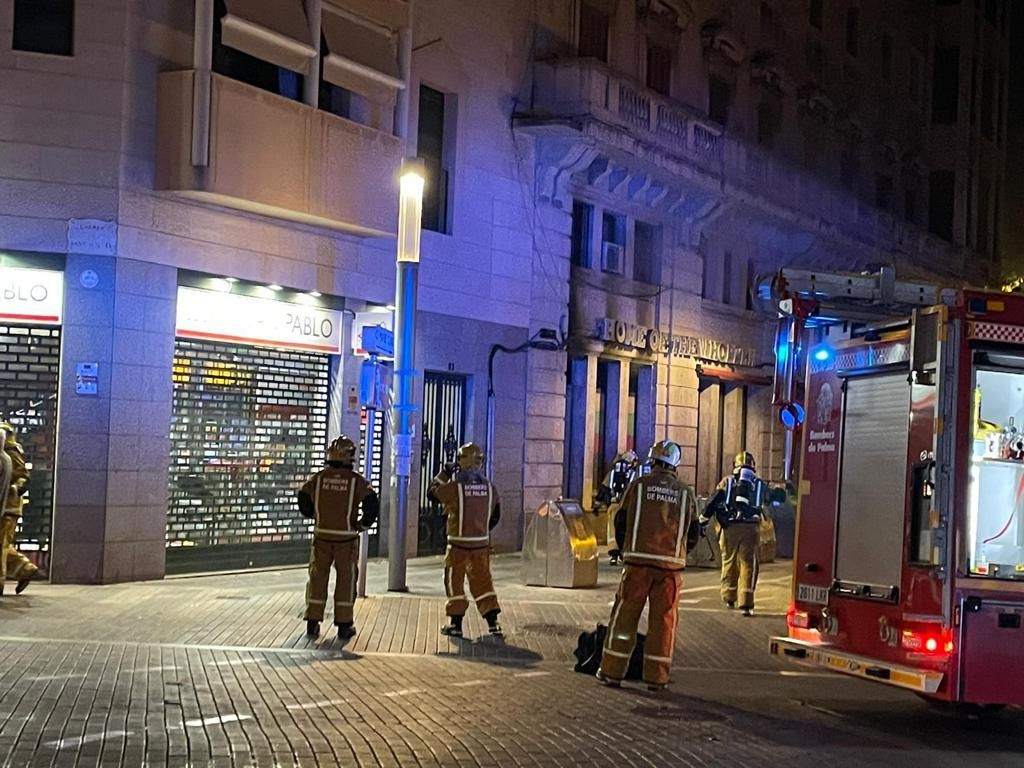
M 1024 705 L 1024 296 L 891 269 L 787 269 L 771 290 L 776 399 L 801 422 L 793 602 L 772 652 Z

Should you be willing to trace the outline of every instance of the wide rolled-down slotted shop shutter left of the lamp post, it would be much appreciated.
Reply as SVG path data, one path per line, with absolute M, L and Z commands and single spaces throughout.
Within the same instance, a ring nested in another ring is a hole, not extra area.
M 295 493 L 324 465 L 329 360 L 175 341 L 168 573 L 305 561 Z

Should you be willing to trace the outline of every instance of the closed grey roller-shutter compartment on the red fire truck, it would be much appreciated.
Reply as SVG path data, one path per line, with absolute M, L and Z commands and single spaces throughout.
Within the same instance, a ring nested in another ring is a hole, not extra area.
M 835 577 L 850 594 L 893 599 L 903 563 L 910 386 L 898 371 L 851 377 L 845 389 Z

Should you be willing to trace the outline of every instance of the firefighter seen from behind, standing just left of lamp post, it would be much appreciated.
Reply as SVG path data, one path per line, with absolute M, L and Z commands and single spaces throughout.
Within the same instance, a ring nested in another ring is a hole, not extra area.
M 306 586 L 306 634 L 319 635 L 327 605 L 328 581 L 334 565 L 334 623 L 338 637 L 355 635 L 352 609 L 358 569 L 358 535 L 371 527 L 380 513 L 380 500 L 370 481 L 352 469 L 355 443 L 341 435 L 327 450 L 327 467 L 299 490 L 299 510 L 312 518 L 313 545 Z M 361 505 L 362 515 L 358 515 Z

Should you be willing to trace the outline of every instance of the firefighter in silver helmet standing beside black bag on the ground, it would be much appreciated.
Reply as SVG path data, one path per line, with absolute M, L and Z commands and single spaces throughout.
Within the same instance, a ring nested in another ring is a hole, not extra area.
M 605 685 L 618 687 L 626 677 L 637 624 L 648 601 L 643 679 L 652 691 L 669 683 L 686 550 L 693 544 L 689 529 L 694 497 L 676 476 L 681 458 L 679 445 L 671 440 L 652 445 L 650 473 L 630 484 L 615 515 L 615 541 L 625 567 L 597 671 Z

